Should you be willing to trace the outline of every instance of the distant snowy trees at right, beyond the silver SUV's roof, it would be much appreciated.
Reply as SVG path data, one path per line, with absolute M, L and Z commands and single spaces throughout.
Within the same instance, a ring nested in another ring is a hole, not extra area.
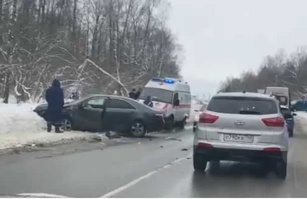
M 257 71 L 244 71 L 239 77 L 227 77 L 220 90 L 245 90 L 257 92 L 267 86 L 289 87 L 292 98 L 307 98 L 307 51 L 299 47 L 287 55 L 280 49 L 275 55 L 265 57 Z

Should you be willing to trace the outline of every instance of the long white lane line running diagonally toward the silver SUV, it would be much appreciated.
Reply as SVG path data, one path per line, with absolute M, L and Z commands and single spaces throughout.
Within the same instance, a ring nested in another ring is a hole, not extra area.
M 159 169 L 157 169 L 157 170 L 155 170 L 155 171 L 151 171 L 151 172 L 149 172 L 149 173 L 147 173 L 147 174 L 145 174 L 145 175 L 143 175 L 143 176 L 141 176 L 141 177 L 139 177 L 139 178 L 137 178 L 137 179 L 135 179 L 135 180 L 133 180 L 133 181 L 131 181 L 131 182 L 128 182 L 128 183 L 125 184 L 125 185 L 122 185 L 122 186 L 120 186 L 120 187 L 118 187 L 118 188 L 112 190 L 111 192 L 108 192 L 108 193 L 106 193 L 106 194 L 100 196 L 99 198 L 111 197 L 111 196 L 113 196 L 113 195 L 115 195 L 115 194 L 117 194 L 117 193 L 119 193 L 119 192 L 121 192 L 121 191 L 123 191 L 123 190 L 129 188 L 130 186 L 133 186 L 133 185 L 137 184 L 137 183 L 140 182 L 141 180 L 146 179 L 146 178 L 148 178 L 149 176 L 151 176 L 151 175 L 153 175 L 153 174 L 155 174 L 155 173 L 158 173 L 158 172 L 161 171 L 162 169 L 166 169 L 166 168 L 170 167 L 171 165 L 176 164 L 176 163 L 178 163 L 178 162 L 180 162 L 180 161 L 182 161 L 182 160 L 184 160 L 184 159 L 187 159 L 187 158 L 189 158 L 189 157 L 191 157 L 191 156 L 192 156 L 192 154 L 190 154 L 189 156 L 185 156 L 185 157 L 179 158 L 179 159 L 177 159 L 177 160 L 175 160 L 175 161 L 173 161 L 173 162 L 171 162 L 171 163 L 169 163 L 169 164 L 167 164 L 167 165 L 165 165 L 165 166 L 163 166 L 163 167 L 161 167 L 161 168 L 159 168 Z

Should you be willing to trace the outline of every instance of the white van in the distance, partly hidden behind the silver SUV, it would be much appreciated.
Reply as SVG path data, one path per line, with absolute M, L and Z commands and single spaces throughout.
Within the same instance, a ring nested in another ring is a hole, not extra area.
M 290 90 L 287 87 L 266 87 L 265 94 L 270 94 L 272 93 L 273 95 L 276 96 L 276 98 L 279 101 L 279 104 L 282 106 L 286 106 L 288 109 L 290 109 L 291 105 L 291 99 L 290 99 Z

